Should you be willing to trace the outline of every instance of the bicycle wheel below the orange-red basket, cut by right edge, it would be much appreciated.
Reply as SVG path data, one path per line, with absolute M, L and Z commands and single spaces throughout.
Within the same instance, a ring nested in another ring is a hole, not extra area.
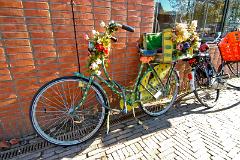
M 226 83 L 233 88 L 240 89 L 240 62 L 227 62 L 218 67 Z

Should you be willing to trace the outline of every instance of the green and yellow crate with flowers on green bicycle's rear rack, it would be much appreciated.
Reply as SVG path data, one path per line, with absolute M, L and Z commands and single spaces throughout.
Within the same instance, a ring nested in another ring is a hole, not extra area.
M 171 63 L 172 61 L 192 58 L 199 48 L 199 36 L 196 32 L 197 21 L 176 23 L 174 28 L 159 33 L 144 33 L 140 44 L 140 61 Z

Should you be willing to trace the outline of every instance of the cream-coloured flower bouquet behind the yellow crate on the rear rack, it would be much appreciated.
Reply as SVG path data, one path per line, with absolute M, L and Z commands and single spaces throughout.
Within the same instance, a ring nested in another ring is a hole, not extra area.
M 177 23 L 173 31 L 172 40 L 176 44 L 177 53 L 186 53 L 192 55 L 199 48 L 199 36 L 196 32 L 197 21 L 190 24 Z

